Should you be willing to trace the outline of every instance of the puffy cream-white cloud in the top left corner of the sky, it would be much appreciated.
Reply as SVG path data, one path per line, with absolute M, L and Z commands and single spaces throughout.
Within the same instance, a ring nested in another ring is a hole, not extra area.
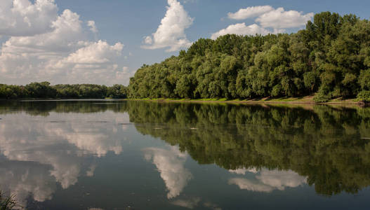
M 51 31 L 58 13 L 54 0 L 1 0 L 0 35 L 32 36 Z

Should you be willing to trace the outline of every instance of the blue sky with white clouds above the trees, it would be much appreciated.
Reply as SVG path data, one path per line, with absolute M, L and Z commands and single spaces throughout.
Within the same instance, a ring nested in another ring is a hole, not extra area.
M 315 13 L 370 18 L 364 0 L 1 0 L 0 83 L 128 85 L 199 38 L 292 33 Z

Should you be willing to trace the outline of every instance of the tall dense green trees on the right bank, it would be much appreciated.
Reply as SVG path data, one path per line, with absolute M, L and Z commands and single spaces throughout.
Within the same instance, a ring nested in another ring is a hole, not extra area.
M 370 22 L 324 12 L 295 34 L 201 38 L 131 78 L 131 98 L 370 99 Z

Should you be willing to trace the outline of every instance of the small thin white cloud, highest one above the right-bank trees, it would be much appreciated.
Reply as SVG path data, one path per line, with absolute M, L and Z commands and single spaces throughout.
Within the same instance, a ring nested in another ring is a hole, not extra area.
M 274 10 L 272 6 L 250 6 L 247 8 L 241 8 L 236 13 L 228 13 L 227 16 L 233 20 L 244 20 L 247 18 L 255 18 L 263 13 Z

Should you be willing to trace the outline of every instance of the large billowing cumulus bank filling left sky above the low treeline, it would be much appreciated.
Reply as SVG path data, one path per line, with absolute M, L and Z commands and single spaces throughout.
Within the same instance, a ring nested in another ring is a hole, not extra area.
M 34 9 L 36 16 L 43 17 L 49 23 L 47 29 L 38 29 L 37 33 L 30 33 L 27 27 L 17 27 L 20 30 L 18 34 L 11 34 L 2 44 L 0 83 L 24 84 L 49 80 L 51 83 L 112 85 L 128 81 L 128 73 L 122 73 L 124 66 L 117 64 L 124 45 L 119 42 L 110 45 L 107 41 L 91 41 L 88 34 L 95 36 L 98 32 L 93 20 L 83 22 L 77 13 L 68 9 L 58 15 L 58 7 L 51 0 L 38 0 L 34 3 L 29 0 L 6 0 L 0 3 L 0 22 L 1 17 L 4 19 L 7 13 L 4 10 L 9 7 L 7 3 L 13 7 L 20 4 L 22 8 L 28 5 L 27 11 L 37 8 Z M 51 8 L 55 13 L 49 12 Z M 50 17 L 46 18 L 44 13 Z M 15 23 L 18 19 L 14 15 L 6 16 L 6 20 Z M 43 24 L 37 18 L 34 19 L 37 27 Z M 6 32 L 0 28 L 1 35 L 6 35 Z

